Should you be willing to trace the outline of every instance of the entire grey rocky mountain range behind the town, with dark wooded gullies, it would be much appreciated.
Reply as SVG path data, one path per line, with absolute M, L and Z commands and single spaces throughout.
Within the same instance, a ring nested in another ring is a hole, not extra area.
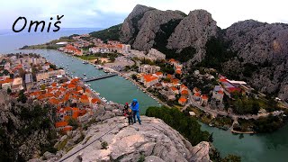
M 204 10 L 186 15 L 138 4 L 114 32 L 133 49 L 155 48 L 166 58 L 217 68 L 288 101 L 287 29 L 284 23 L 247 20 L 222 30 Z

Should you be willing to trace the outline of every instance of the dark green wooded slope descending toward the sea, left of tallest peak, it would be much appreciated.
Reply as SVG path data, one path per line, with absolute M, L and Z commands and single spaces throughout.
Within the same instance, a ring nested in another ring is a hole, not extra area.
M 118 24 L 102 31 L 91 32 L 90 35 L 100 40 L 119 40 L 121 26 L 122 24 Z

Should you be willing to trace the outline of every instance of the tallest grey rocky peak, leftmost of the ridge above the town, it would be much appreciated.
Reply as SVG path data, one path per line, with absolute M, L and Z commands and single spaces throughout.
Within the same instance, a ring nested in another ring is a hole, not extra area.
M 136 5 L 132 13 L 122 23 L 120 40 L 132 44 L 134 49 L 151 49 L 162 24 L 183 18 L 184 14 L 179 11 L 160 11 L 143 5 Z

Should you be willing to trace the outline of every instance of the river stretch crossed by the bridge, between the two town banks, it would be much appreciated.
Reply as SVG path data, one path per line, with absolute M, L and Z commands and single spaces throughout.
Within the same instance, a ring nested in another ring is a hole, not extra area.
M 63 68 L 70 77 L 92 78 L 94 76 L 105 76 L 107 73 L 97 69 L 93 64 L 83 64 L 80 58 L 72 57 L 56 50 L 18 50 L 15 52 L 38 53 L 47 58 L 51 63 Z M 112 71 L 111 71 L 112 72 Z M 85 74 L 85 76 L 84 76 Z M 108 73 L 109 74 L 109 73 Z M 106 103 L 130 103 L 137 98 L 140 103 L 140 113 L 144 114 L 149 106 L 161 106 L 156 99 L 143 92 L 138 85 L 131 84 L 128 79 L 122 76 L 112 76 L 100 80 L 85 83 Z

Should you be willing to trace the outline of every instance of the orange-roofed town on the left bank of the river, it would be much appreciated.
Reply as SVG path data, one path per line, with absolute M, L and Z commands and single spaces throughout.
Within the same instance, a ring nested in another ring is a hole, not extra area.
M 93 115 L 103 104 L 80 78 L 66 76 L 63 69 L 39 55 L 4 55 L 0 61 L 1 89 L 14 97 L 24 93 L 31 102 L 55 107 L 55 127 L 59 131 L 72 130 L 69 120 L 79 121 L 86 113 Z

